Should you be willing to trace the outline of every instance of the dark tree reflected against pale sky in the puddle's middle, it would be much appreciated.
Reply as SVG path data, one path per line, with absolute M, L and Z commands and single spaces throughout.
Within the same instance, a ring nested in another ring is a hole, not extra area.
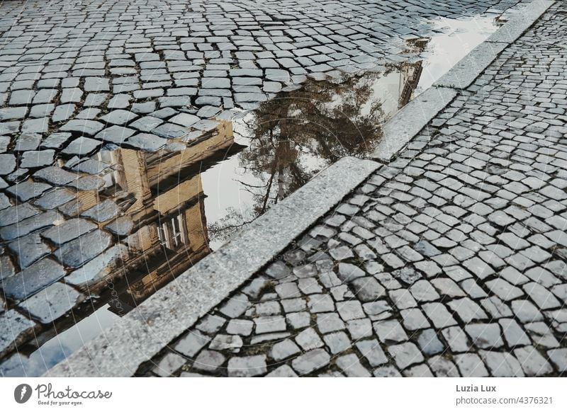
M 254 201 L 211 224 L 211 239 L 230 239 L 340 158 L 369 156 L 419 74 L 419 63 L 406 63 L 336 82 L 308 81 L 245 116 L 234 127 L 248 146 L 238 155 L 242 173 L 235 181 Z

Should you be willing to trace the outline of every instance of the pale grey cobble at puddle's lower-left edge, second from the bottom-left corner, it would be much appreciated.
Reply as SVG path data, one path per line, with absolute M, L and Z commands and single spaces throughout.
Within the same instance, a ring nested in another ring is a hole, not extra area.
M 21 302 L 20 307 L 42 324 L 50 324 L 77 306 L 84 296 L 64 283 L 57 282 L 45 288 L 30 299 Z

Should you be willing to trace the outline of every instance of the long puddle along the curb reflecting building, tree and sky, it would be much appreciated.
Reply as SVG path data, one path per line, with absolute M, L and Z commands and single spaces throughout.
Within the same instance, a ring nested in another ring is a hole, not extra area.
M 438 34 L 412 40 L 408 62 L 308 80 L 184 150 L 107 146 L 83 162 L 104 180 L 99 198 L 116 202 L 132 227 L 117 231 L 106 261 L 67 275 L 90 299 L 18 348 L 22 355 L 0 374 L 43 374 L 323 168 L 342 156 L 368 157 L 383 122 L 493 33 L 494 22 L 432 21 Z

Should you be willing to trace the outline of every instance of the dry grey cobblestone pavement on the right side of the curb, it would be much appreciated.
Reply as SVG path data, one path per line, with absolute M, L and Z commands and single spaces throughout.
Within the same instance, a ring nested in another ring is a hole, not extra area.
M 139 374 L 565 374 L 566 16 Z

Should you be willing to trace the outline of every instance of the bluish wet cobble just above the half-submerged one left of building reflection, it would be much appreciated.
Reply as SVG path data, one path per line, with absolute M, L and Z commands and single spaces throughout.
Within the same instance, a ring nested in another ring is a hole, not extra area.
M 97 229 L 64 244 L 55 251 L 55 256 L 65 266 L 79 268 L 95 256 L 99 256 L 111 244 L 111 234 Z

